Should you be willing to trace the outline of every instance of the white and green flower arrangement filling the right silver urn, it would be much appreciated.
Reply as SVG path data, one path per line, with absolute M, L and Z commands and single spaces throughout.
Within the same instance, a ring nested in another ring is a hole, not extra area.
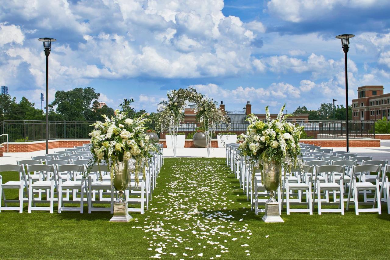
M 301 155 L 299 139 L 302 126 L 294 126 L 286 122 L 287 115 L 283 114 L 285 105 L 280 109 L 276 119 L 271 120 L 268 106 L 266 107 L 266 122 L 254 114 L 248 115 L 249 122 L 245 134 L 238 136 L 239 150 L 249 157 L 255 167 L 259 167 L 262 160 L 272 159 L 283 167 L 296 166 L 298 156 Z

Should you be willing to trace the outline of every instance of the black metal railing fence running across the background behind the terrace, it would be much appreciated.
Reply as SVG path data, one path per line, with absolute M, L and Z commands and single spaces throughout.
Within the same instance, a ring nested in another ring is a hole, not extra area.
M 94 121 L 49 121 L 50 139 L 87 139 L 93 127 Z M 231 121 L 230 126 L 221 124 L 216 132 L 235 132 L 241 134 L 248 127 L 247 121 Z M 345 121 L 308 121 L 296 123 L 304 126 L 307 137 L 312 138 L 345 138 Z M 156 129 L 155 123 L 148 123 L 148 129 Z M 199 123 L 183 123 L 179 126 L 179 132 L 186 134 L 195 132 L 200 127 Z M 390 123 L 387 121 L 356 120 L 349 121 L 349 138 L 373 138 L 375 134 L 390 133 Z M 46 139 L 46 121 L 33 120 L 6 120 L 0 123 L 0 134 L 8 134 L 10 142 L 41 141 Z M 164 138 L 165 134 L 160 133 Z M 6 137 L 1 137 L 1 142 Z

